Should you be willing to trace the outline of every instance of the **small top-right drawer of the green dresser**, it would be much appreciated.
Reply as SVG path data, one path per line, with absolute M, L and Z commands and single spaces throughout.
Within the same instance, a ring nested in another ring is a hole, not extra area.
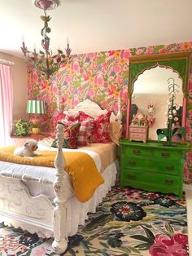
M 163 159 L 181 159 L 180 151 L 170 151 L 167 149 L 154 149 L 152 152 L 153 157 Z

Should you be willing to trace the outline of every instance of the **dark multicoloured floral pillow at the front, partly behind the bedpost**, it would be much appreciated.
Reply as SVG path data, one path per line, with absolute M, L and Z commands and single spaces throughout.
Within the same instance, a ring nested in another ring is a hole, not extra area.
M 70 126 L 63 124 L 63 148 L 77 148 L 77 139 L 80 130 L 80 123 L 75 123 Z M 57 148 L 57 139 L 54 140 L 51 147 Z

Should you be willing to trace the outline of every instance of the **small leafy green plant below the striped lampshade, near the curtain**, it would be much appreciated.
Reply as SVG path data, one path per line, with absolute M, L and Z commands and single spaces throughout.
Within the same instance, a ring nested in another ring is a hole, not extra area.
M 18 121 L 14 121 L 14 133 L 16 136 L 27 136 L 30 132 L 30 128 L 31 128 L 31 121 L 29 120 L 23 120 L 20 119 Z

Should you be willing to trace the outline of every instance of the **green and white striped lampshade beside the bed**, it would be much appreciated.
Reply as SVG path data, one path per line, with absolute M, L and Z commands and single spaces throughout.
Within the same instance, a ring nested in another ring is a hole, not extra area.
M 27 113 L 29 114 L 45 114 L 46 106 L 43 100 L 28 100 Z

